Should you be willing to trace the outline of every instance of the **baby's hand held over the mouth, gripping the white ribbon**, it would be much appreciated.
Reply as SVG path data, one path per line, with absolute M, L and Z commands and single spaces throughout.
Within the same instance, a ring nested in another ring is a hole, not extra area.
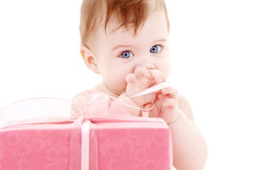
M 146 67 L 138 67 L 134 73 L 126 75 L 125 80 L 127 82 L 126 95 L 131 97 L 136 95 L 151 86 L 165 82 L 163 73 L 157 69 L 147 69 Z M 139 107 L 142 105 L 152 102 L 156 98 L 157 94 L 149 93 L 142 96 L 131 98 L 137 103 Z

